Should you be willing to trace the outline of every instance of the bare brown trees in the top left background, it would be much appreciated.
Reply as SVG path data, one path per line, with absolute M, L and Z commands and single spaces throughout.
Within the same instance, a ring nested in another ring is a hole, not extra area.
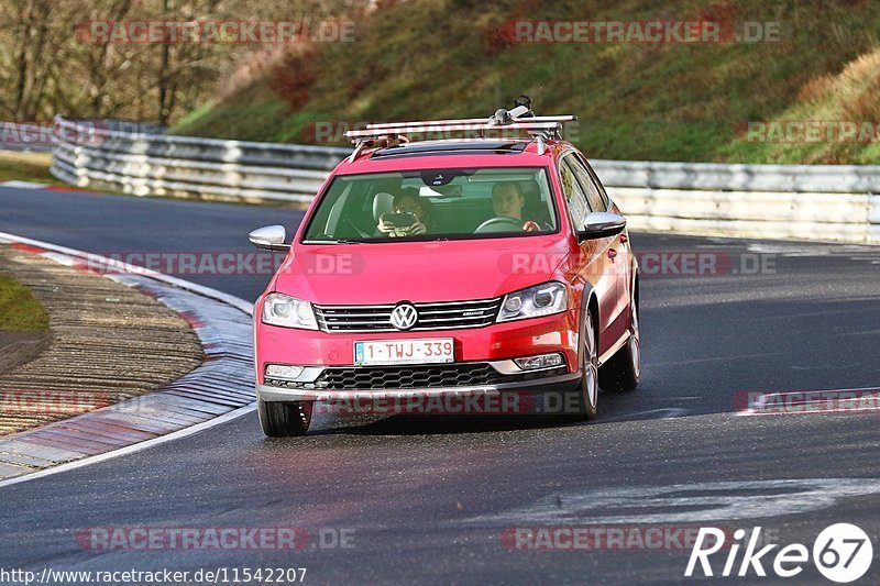
M 0 119 L 134 118 L 173 122 L 228 87 L 272 44 L 90 38 L 100 21 L 311 20 L 356 0 L 0 0 Z M 82 31 L 80 30 L 79 33 Z M 257 59 L 258 60 L 258 59 Z

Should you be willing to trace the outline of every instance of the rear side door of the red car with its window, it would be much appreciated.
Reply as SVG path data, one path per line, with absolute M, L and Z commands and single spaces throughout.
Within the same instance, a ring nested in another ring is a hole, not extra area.
M 590 167 L 582 159 L 580 153 L 574 153 L 570 161 L 574 170 L 574 176 L 583 188 L 590 209 L 593 211 L 609 211 L 607 195 L 601 189 L 597 178 L 590 173 Z M 604 197 L 603 197 L 604 196 Z M 612 341 L 622 336 L 627 328 L 629 319 L 630 286 L 632 281 L 632 255 L 629 247 L 629 237 L 626 232 L 612 236 L 608 244 L 607 256 L 610 261 L 609 269 L 616 277 L 615 307 L 613 310 L 613 321 L 610 323 Z

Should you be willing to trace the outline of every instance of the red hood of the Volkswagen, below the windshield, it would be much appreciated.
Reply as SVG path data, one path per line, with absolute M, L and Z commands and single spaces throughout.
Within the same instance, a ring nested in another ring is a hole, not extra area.
M 296 245 L 274 290 L 321 305 L 486 299 L 553 278 L 568 252 L 560 234 Z

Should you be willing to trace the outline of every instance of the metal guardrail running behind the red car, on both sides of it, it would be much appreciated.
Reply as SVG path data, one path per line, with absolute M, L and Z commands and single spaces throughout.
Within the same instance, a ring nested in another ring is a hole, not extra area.
M 146 195 L 311 201 L 349 148 L 77 126 L 52 174 Z M 635 229 L 880 243 L 880 166 L 593 161 Z

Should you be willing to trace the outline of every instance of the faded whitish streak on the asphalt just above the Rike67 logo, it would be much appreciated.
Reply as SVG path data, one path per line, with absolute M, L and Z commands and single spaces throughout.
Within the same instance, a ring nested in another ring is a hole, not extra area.
M 877 494 L 880 494 L 877 478 L 610 488 L 551 495 L 525 508 L 476 516 L 465 522 L 486 526 L 696 523 L 802 515 L 833 507 L 843 498 Z M 649 512 L 651 509 L 657 512 Z M 609 510 L 616 512 L 604 513 Z

